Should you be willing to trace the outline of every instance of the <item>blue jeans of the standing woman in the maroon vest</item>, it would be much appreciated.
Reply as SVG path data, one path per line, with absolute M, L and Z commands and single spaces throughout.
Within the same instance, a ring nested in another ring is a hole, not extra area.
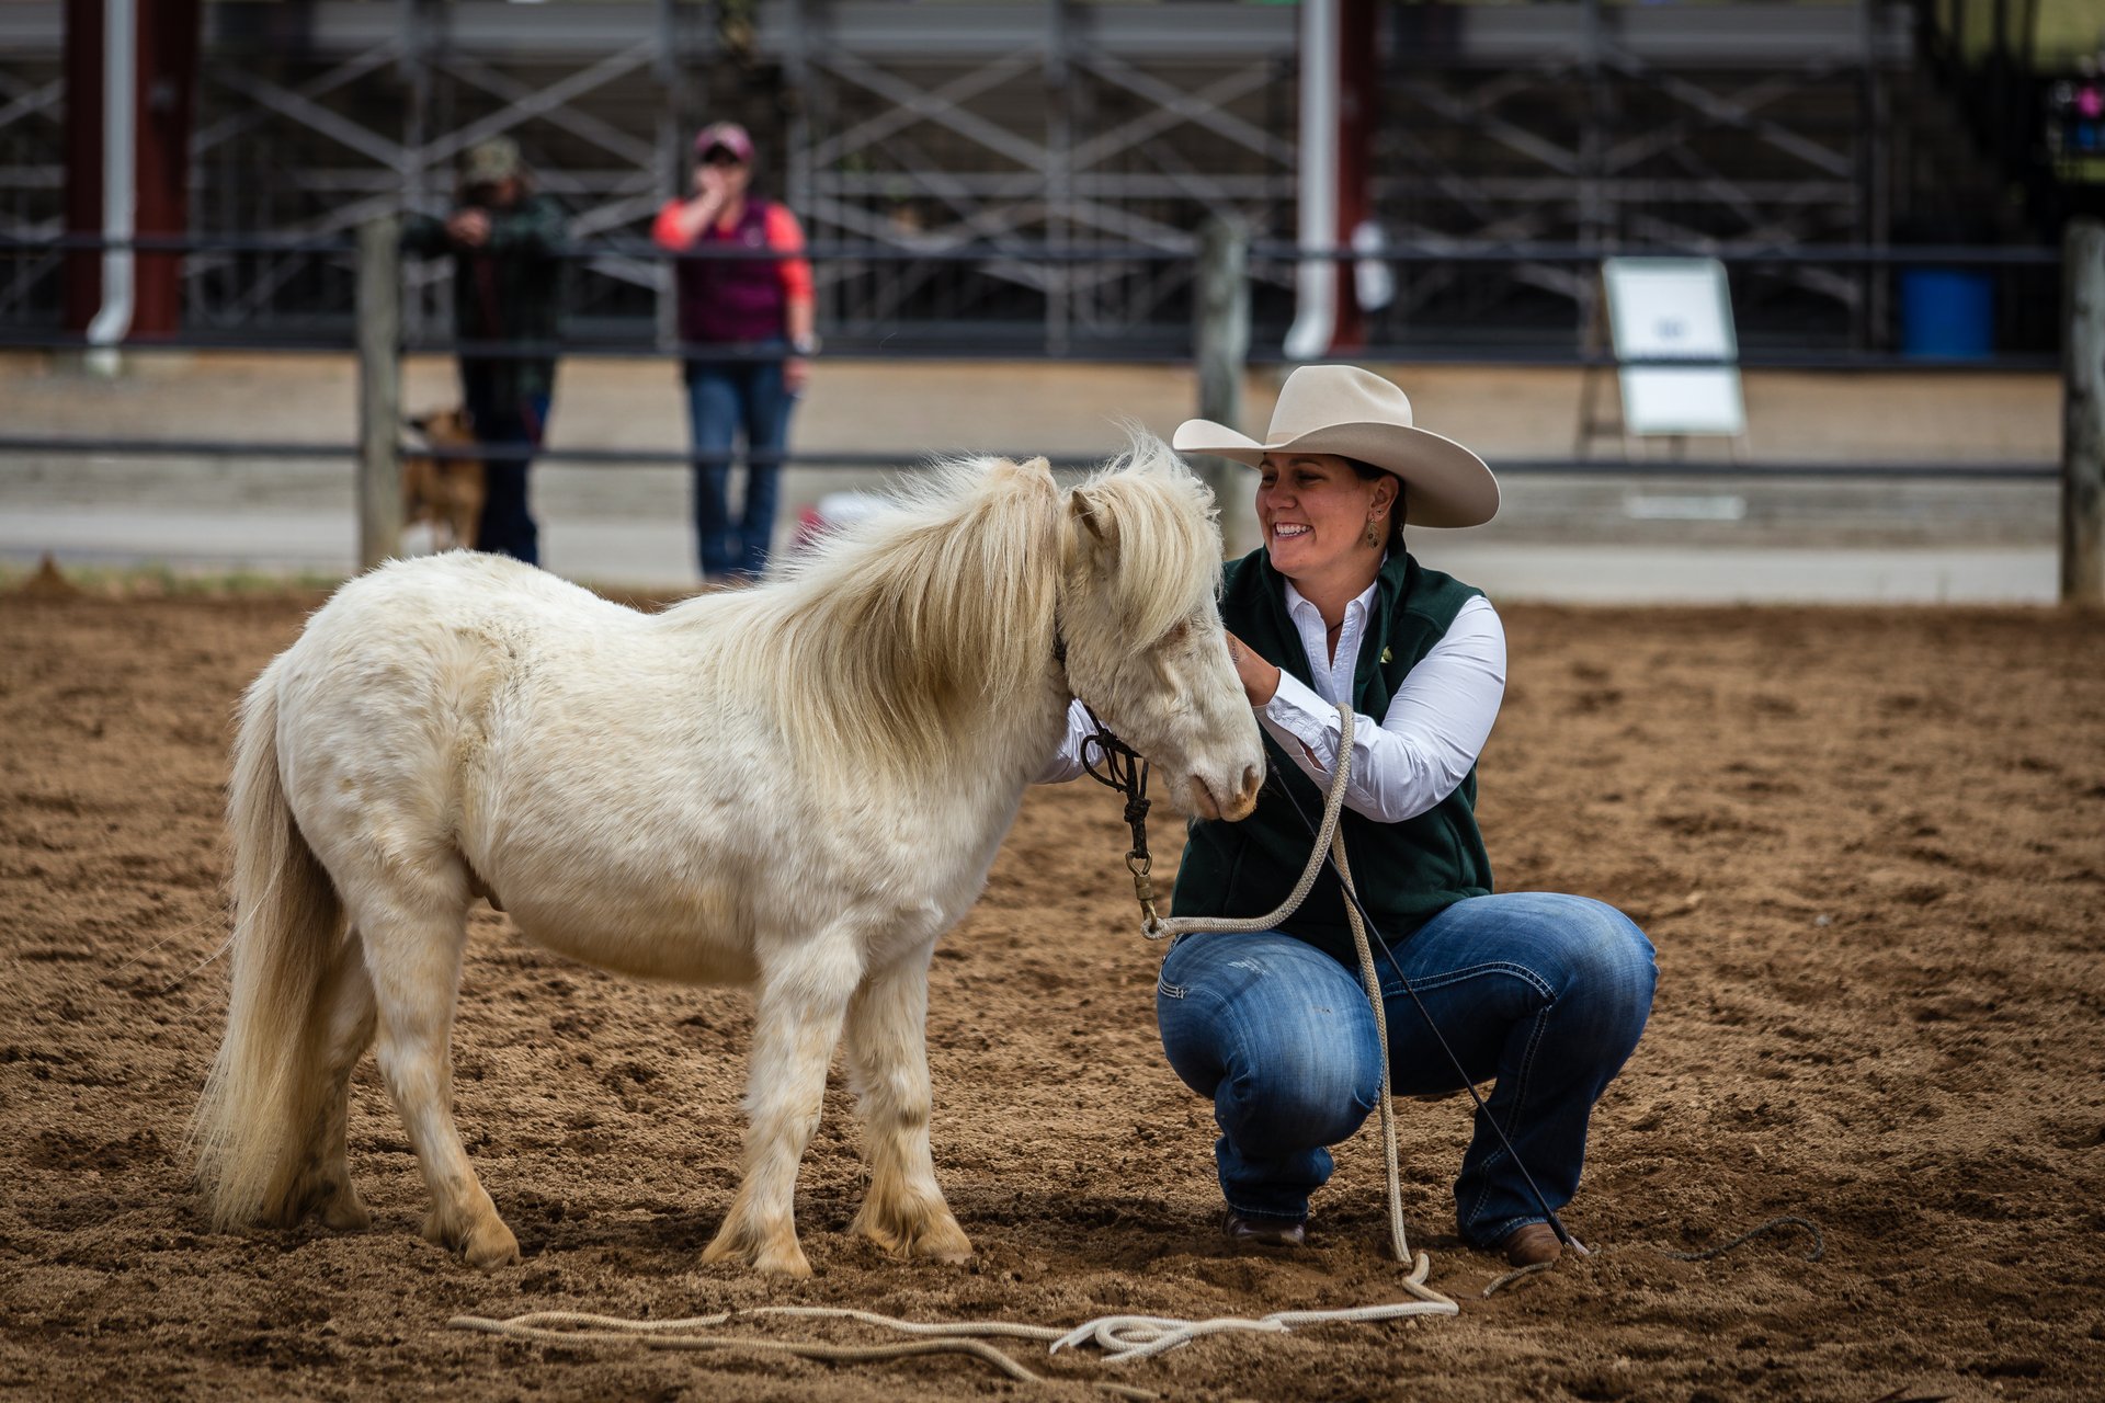
M 762 347 L 770 349 L 770 347 Z M 781 349 L 779 345 L 773 349 Z M 686 406 L 695 429 L 695 538 L 703 576 L 751 576 L 768 564 L 775 490 L 796 395 L 779 360 L 690 362 Z M 730 459 L 745 435 L 745 505 L 730 515 Z

